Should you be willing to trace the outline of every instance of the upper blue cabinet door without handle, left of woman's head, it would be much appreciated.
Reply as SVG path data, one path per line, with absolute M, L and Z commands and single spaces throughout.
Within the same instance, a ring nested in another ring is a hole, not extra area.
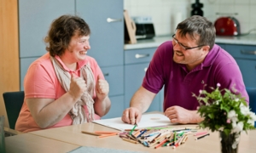
M 63 14 L 74 14 L 74 8 L 74 0 L 20 0 L 20 58 L 45 54 L 44 37 L 51 22 Z

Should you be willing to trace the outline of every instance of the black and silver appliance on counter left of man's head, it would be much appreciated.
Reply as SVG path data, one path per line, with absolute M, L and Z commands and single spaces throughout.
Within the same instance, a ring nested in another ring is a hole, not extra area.
M 136 25 L 136 38 L 151 39 L 155 36 L 154 25 L 150 16 L 131 17 Z

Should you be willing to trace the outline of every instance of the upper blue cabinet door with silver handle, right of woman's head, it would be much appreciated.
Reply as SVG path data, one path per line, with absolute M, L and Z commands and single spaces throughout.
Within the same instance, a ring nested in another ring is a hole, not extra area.
M 77 0 L 76 14 L 90 26 L 88 54 L 100 66 L 124 64 L 122 0 Z

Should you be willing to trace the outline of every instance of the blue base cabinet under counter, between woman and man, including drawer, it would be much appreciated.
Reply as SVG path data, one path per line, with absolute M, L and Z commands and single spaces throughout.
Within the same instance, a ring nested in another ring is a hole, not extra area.
M 142 85 L 143 77 L 156 48 L 125 50 L 125 108 L 130 106 L 131 97 Z M 156 94 L 148 111 L 162 111 L 163 94 Z

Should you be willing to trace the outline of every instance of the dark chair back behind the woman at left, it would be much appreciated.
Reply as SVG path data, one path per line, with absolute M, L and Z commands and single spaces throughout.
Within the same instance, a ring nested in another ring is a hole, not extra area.
M 24 102 L 24 91 L 5 92 L 3 93 L 3 101 L 8 116 L 9 127 L 15 129 L 15 124 Z

